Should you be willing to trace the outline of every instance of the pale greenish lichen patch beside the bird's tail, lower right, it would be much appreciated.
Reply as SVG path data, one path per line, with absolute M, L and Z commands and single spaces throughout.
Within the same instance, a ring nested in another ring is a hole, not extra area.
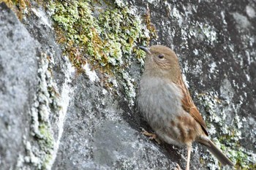
M 255 169 L 256 155 L 242 147 L 239 142 L 243 122 L 237 114 L 234 114 L 233 117 L 231 115 L 227 117 L 226 112 L 229 108 L 225 107 L 230 107 L 227 105 L 228 101 L 222 101 L 217 96 L 217 93 L 214 92 L 197 95 L 207 115 L 203 116 L 208 125 L 209 134 L 215 136 L 213 141 L 233 163 L 236 163 L 236 169 Z M 230 122 L 230 125 L 227 125 L 227 122 Z M 210 158 L 210 160 L 212 159 Z M 218 169 L 218 162 L 213 160 L 211 162 L 208 166 Z

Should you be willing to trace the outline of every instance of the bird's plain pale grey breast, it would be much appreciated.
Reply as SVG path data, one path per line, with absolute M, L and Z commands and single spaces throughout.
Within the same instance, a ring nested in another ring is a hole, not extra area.
M 159 77 L 140 80 L 138 107 L 152 128 L 163 128 L 184 111 L 182 92 L 173 82 Z

